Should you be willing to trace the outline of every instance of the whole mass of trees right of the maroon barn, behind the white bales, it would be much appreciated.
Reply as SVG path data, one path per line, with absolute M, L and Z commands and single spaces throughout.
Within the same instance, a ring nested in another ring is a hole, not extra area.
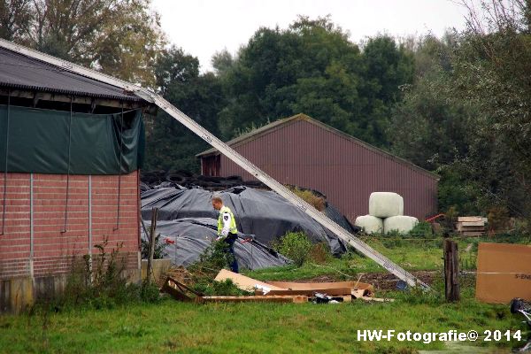
M 465 31 L 424 38 L 415 50 L 419 73 L 394 107 L 392 150 L 440 173 L 442 211 L 529 220 L 531 8 L 463 4 Z

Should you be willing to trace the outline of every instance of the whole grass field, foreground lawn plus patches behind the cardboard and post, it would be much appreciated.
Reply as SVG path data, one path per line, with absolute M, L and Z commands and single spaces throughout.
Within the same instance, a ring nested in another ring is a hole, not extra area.
M 473 267 L 473 248 L 460 242 L 464 266 Z M 437 242 L 373 241 L 373 247 L 409 270 L 438 273 L 442 251 Z M 333 279 L 382 272 L 367 258 L 350 255 L 326 264 L 309 263 L 251 272 L 263 280 Z M 363 281 L 363 280 L 362 280 Z M 443 283 L 435 276 L 432 293 L 417 290 L 381 291 L 392 303 L 351 304 L 184 304 L 164 299 L 158 304 L 131 304 L 104 310 L 77 308 L 60 312 L 37 310 L 0 317 L 0 353 L 415 353 L 511 352 L 525 345 L 527 328 L 507 305 L 481 304 L 473 299 L 473 277 L 462 279 L 463 299 L 443 300 Z M 476 330 L 477 342 L 358 341 L 358 330 L 397 332 Z M 483 342 L 485 330 L 522 331 L 515 339 Z M 466 351 L 468 350 L 468 351 Z M 428 351 L 429 352 L 429 351 Z

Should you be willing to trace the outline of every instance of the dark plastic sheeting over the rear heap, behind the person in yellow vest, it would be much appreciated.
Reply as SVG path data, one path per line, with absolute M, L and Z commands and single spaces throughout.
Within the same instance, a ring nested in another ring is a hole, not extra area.
M 273 191 L 236 187 L 215 193 L 235 213 L 238 230 L 245 235 L 256 235 L 258 242 L 270 244 L 288 232 L 303 231 L 313 242 L 327 242 L 335 255 L 346 250 L 336 235 Z M 158 207 L 159 220 L 210 218 L 215 221 L 218 212 L 212 208 L 213 194 L 204 189 L 146 190 L 142 192 L 142 219 L 149 220 L 151 209 Z M 334 207 L 329 205 L 325 213 L 348 231 L 356 232 Z

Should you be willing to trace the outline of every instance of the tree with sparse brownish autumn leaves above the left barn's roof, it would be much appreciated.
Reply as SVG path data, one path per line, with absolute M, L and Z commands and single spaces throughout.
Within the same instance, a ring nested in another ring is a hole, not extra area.
M 4 0 L 0 21 L 5 39 L 154 86 L 165 39 L 150 0 Z

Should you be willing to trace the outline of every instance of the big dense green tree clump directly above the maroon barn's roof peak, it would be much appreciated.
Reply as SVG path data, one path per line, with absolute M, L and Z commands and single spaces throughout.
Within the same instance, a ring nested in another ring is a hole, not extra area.
M 401 99 L 399 86 L 412 80 L 412 58 L 389 37 L 370 41 L 366 50 L 361 53 L 329 18 L 299 17 L 287 29 L 258 29 L 224 70 L 222 135 L 304 112 L 387 145 L 389 105 Z

